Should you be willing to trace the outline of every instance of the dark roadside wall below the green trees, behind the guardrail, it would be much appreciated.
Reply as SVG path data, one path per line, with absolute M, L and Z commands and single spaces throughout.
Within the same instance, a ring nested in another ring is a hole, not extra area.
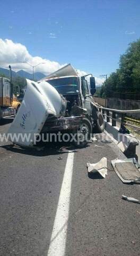
M 120 110 L 140 109 L 140 100 L 121 100 L 116 98 L 108 98 L 107 108 L 114 108 Z M 133 113 L 127 115 L 140 120 L 140 113 Z

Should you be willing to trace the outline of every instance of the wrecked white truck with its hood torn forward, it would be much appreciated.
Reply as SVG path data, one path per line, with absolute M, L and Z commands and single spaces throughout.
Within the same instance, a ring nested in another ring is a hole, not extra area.
M 90 85 L 88 75 L 78 76 L 68 64 L 41 81 L 27 79 L 21 107 L 7 131 L 9 140 L 34 147 L 39 134 L 65 131 L 74 135 L 74 146 L 84 147 L 92 132 L 104 130 L 103 116 L 93 100 L 95 78 L 89 75 Z

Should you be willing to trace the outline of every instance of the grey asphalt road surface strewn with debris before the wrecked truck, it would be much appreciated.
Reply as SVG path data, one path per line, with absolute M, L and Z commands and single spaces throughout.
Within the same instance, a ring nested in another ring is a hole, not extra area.
M 0 133 L 9 125 L 1 125 Z M 117 146 L 93 142 L 59 154 L 69 145 L 36 151 L 10 144 L 0 147 L 0 255 L 139 255 L 140 205 L 121 195 L 140 199 L 140 189 L 124 185 L 113 171 L 110 161 L 124 158 Z M 86 163 L 102 157 L 107 177 L 88 175 Z

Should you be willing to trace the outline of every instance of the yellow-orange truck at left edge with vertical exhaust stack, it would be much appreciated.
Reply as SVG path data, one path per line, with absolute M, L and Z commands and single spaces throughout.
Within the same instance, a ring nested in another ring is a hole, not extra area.
M 3 118 L 15 117 L 21 105 L 14 97 L 11 83 L 11 66 L 9 66 L 9 69 L 10 79 L 0 77 L 0 122 Z M 19 86 L 16 86 L 16 90 L 19 92 Z

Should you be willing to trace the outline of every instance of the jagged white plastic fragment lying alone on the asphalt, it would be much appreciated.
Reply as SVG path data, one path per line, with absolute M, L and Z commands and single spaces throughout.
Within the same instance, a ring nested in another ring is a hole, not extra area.
M 98 163 L 90 164 L 87 163 L 89 173 L 99 172 L 103 178 L 107 175 L 107 158 L 103 157 Z

